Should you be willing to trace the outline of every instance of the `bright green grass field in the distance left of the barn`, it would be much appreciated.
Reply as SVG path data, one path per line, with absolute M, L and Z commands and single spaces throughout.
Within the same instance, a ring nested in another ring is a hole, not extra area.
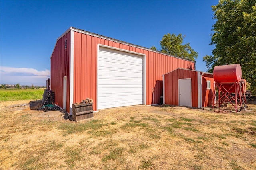
M 0 101 L 42 99 L 44 89 L 1 89 Z

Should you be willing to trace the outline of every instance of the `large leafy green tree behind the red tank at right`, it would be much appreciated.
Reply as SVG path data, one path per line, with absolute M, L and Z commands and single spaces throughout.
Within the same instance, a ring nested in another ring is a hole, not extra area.
M 214 11 L 212 55 L 203 57 L 208 71 L 239 63 L 242 77 L 256 92 L 256 0 L 220 0 Z

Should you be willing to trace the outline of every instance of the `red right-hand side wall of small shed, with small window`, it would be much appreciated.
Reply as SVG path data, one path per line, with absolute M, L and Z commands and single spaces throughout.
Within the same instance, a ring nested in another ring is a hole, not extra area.
M 211 89 L 207 89 L 207 81 L 211 81 Z M 202 107 L 212 106 L 213 92 L 213 75 L 204 73 L 202 76 Z

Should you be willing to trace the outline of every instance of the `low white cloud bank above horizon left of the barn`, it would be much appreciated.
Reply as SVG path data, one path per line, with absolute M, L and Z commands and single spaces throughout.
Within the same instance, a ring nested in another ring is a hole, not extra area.
M 38 71 L 34 68 L 0 66 L 0 84 L 46 86 L 48 78 L 50 78 L 50 71 L 47 69 Z

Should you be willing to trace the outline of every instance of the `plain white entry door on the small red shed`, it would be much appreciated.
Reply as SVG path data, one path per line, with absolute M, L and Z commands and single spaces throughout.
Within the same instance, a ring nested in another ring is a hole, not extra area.
M 179 79 L 179 106 L 192 106 L 191 78 Z

